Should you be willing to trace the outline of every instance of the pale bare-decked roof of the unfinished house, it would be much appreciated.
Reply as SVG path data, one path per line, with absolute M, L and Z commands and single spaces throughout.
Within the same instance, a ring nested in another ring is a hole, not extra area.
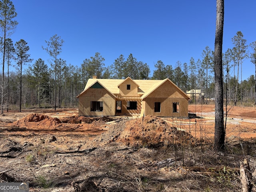
M 130 78 L 130 77 L 128 77 Z M 122 82 L 126 81 L 128 78 L 124 79 L 88 79 L 88 82 L 83 90 L 85 92 L 92 85 L 98 82 L 102 85 L 106 90 L 108 90 L 112 95 L 119 94 L 119 86 Z M 131 79 L 131 78 L 130 78 Z M 152 93 L 156 88 L 162 85 L 166 81 L 170 81 L 180 92 L 184 95 L 184 97 L 190 99 L 190 97 L 183 92 L 178 86 L 176 86 L 170 79 L 166 78 L 164 80 L 132 80 L 135 84 L 138 85 L 138 94 L 142 95 L 141 98 L 146 98 L 150 93 Z M 83 93 L 81 92 L 78 97 Z M 116 97 L 116 96 L 115 96 Z

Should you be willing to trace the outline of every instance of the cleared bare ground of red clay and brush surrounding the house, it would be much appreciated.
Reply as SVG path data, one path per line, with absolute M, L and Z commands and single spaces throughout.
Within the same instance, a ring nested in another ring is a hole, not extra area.
M 256 166 L 256 110 L 233 107 L 226 151 L 212 150 L 214 105 L 196 118 L 79 117 L 76 108 L 0 116 L 0 182 L 30 191 L 239 191 L 239 167 Z M 255 179 L 255 178 L 254 178 Z

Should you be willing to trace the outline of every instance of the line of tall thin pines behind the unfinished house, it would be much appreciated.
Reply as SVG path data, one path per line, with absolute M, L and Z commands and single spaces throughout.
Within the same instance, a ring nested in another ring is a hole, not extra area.
M 41 58 L 35 61 L 30 59 L 29 46 L 25 40 L 21 39 L 14 44 L 9 38 L 18 24 L 16 15 L 11 1 L 0 1 L 0 30 L 3 34 L 0 39 L 3 58 L 1 113 L 9 108 L 21 110 L 30 107 L 76 107 L 76 96 L 84 90 L 88 78 L 93 75 L 107 79 L 125 79 L 128 76 L 142 80 L 169 78 L 184 92 L 201 90 L 206 104 L 209 98 L 215 95 L 214 51 L 208 46 L 202 50 L 202 58 L 191 58 L 187 63 L 177 61 L 176 64 L 164 64 L 158 60 L 151 73 L 149 65 L 138 61 L 132 54 L 127 58 L 121 54 L 109 66 L 105 66 L 105 59 L 99 52 L 85 58 L 80 66 L 67 64 L 66 60 L 60 57 L 64 40 L 55 34 L 42 46 L 50 58 L 46 64 Z M 242 63 L 250 58 L 256 67 L 256 41 L 249 44 L 252 48 L 252 52 L 249 52 L 246 39 L 242 32 L 238 31 L 232 38 L 232 43 L 234 47 L 223 54 L 224 98 L 235 105 L 238 102 L 255 103 L 256 71 L 247 80 L 242 80 Z M 26 64 L 28 67 L 24 68 Z M 10 66 L 14 66 L 16 70 L 9 71 Z M 192 102 L 202 102 L 195 99 L 192 98 Z

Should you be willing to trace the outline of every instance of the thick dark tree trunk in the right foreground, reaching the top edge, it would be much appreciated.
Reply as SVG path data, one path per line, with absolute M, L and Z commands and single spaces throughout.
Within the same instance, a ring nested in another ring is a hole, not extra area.
M 222 78 L 222 41 L 224 24 L 224 0 L 217 0 L 216 33 L 214 47 L 215 72 L 215 133 L 214 150 L 224 149 L 224 112 L 223 112 L 223 78 Z

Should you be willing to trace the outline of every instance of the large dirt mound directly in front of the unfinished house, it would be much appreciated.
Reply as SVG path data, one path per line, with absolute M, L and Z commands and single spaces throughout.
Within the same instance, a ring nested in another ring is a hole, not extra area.
M 191 139 L 190 139 L 191 138 Z M 123 120 L 110 127 L 96 138 L 96 142 L 123 142 L 131 146 L 169 146 L 194 142 L 192 136 L 169 126 L 162 118 L 145 116 L 133 120 Z

